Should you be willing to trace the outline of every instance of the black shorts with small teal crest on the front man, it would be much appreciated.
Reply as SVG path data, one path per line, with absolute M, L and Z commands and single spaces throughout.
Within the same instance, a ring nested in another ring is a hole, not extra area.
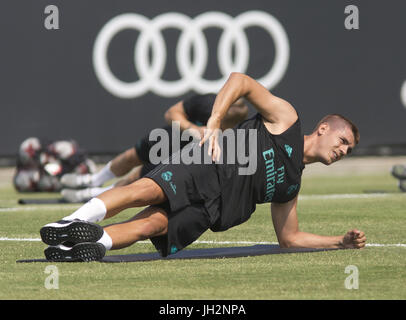
M 168 200 L 168 233 L 151 238 L 159 253 L 173 254 L 199 238 L 217 221 L 221 189 L 215 164 L 161 164 L 145 178 L 154 180 Z

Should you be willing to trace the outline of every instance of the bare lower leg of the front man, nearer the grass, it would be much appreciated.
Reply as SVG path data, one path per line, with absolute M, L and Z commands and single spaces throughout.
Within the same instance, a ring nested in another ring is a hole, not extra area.
M 113 242 L 111 249 L 122 249 L 137 241 L 166 234 L 168 217 L 163 209 L 150 206 L 132 219 L 106 226 L 104 230 Z

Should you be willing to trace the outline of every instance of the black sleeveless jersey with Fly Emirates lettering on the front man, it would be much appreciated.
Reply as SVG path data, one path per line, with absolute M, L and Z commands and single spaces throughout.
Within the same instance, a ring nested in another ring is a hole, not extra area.
M 266 129 L 259 113 L 233 129 L 236 137 L 238 129 L 244 129 L 242 132 L 247 154 L 250 144 L 249 129 L 254 129 L 257 133 L 256 170 L 253 174 L 242 175 L 239 172 L 241 165 L 237 161 L 234 165 L 227 164 L 229 155 L 224 142 L 223 164 L 217 164 L 221 186 L 221 214 L 212 228 L 213 231 L 226 230 L 248 220 L 257 203 L 288 202 L 296 197 L 300 189 L 304 169 L 304 136 L 299 118 L 279 135 Z

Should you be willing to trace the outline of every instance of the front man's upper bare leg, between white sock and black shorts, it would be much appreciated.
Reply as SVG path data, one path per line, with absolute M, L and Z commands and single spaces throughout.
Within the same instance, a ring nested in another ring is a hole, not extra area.
M 97 198 L 106 206 L 105 219 L 127 208 L 144 207 L 167 200 L 161 187 L 152 179 L 142 178 L 127 186 L 103 192 Z

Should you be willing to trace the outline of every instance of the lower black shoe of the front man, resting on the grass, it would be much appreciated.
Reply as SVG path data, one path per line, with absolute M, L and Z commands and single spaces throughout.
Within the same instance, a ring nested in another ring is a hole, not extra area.
M 55 262 L 90 262 L 103 259 L 106 248 L 101 243 L 84 242 L 73 247 L 63 245 L 50 246 L 44 250 L 48 261 Z

